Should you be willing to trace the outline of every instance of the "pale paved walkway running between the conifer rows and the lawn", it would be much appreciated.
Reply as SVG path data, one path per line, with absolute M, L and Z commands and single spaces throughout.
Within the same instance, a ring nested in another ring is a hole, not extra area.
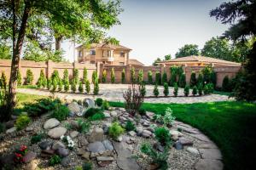
M 128 84 L 100 84 L 100 97 L 102 99 L 107 99 L 108 101 L 124 101 L 123 93 L 128 88 Z M 91 89 L 93 87 L 91 86 Z M 147 85 L 147 94 L 146 96 L 154 96 L 153 89 L 154 86 Z M 38 89 L 30 89 L 30 88 L 19 88 L 17 90 L 20 93 L 25 94 L 37 94 L 50 96 L 48 90 L 38 90 Z M 92 90 L 91 90 L 92 91 Z M 163 87 L 159 87 L 160 95 L 163 96 Z M 219 95 L 219 94 L 211 94 L 205 95 L 201 97 L 184 97 L 183 96 L 183 88 L 179 88 L 178 96 L 173 97 L 173 88 L 169 88 L 169 94 L 171 97 L 168 98 L 146 98 L 145 102 L 147 103 L 179 103 L 179 104 L 191 104 L 191 103 L 204 103 L 204 102 L 216 102 L 216 101 L 227 101 L 233 100 L 229 99 L 228 96 Z M 190 90 L 190 94 L 192 91 Z M 69 93 L 55 93 L 55 95 L 61 99 L 84 99 L 84 98 L 97 98 L 99 96 L 87 95 L 87 94 L 69 94 Z

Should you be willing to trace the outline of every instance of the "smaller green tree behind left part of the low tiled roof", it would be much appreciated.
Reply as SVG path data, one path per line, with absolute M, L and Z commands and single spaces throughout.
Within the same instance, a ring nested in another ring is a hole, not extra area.
M 190 55 L 199 55 L 198 45 L 195 44 L 186 44 L 182 48 L 178 49 L 178 52 L 175 54 L 176 58 L 186 57 Z

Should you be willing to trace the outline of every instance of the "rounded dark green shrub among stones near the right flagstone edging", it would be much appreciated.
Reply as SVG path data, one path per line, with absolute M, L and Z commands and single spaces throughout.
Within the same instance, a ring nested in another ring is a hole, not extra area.
M 171 143 L 171 134 L 169 129 L 166 127 L 156 127 L 154 129 L 154 135 L 155 139 L 157 139 L 162 145 Z

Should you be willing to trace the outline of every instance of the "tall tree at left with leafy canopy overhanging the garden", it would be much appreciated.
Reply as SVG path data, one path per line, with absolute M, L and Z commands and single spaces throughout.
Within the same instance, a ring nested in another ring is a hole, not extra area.
M 9 118 L 14 110 L 20 54 L 24 39 L 27 32 L 29 32 L 27 28 L 32 27 L 30 25 L 32 23 L 31 20 L 44 16 L 45 20 L 51 22 L 51 28 L 56 26 L 59 28 L 56 29 L 57 31 L 71 31 L 71 35 L 81 37 L 79 38 L 80 40 L 88 37 L 92 40 L 96 37 L 96 32 L 100 30 L 97 28 L 108 29 L 110 26 L 119 24 L 117 16 L 122 11 L 119 8 L 119 4 L 119 1 L 105 3 L 100 0 L 24 0 L 19 1 L 19 3 L 15 0 L 2 1 L 0 6 L 0 27 L 7 28 L 3 29 L 4 31 L 10 31 L 9 38 L 13 42 L 9 102 L 7 102 L 9 104 L 9 114 L 6 117 Z

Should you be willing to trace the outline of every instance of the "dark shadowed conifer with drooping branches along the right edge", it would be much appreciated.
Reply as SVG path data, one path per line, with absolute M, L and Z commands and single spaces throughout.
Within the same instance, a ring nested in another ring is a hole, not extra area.
M 247 42 L 248 37 L 255 37 L 256 34 L 256 2 L 254 0 L 238 0 L 229 3 L 222 3 L 219 7 L 212 9 L 211 17 L 220 20 L 223 24 L 230 24 L 224 37 L 237 42 Z M 238 100 L 256 100 L 256 42 L 247 54 L 247 62 L 244 65 L 244 72 L 235 88 L 235 97 Z M 248 164 L 248 167 L 251 166 Z M 245 168 L 245 167 L 244 167 Z

